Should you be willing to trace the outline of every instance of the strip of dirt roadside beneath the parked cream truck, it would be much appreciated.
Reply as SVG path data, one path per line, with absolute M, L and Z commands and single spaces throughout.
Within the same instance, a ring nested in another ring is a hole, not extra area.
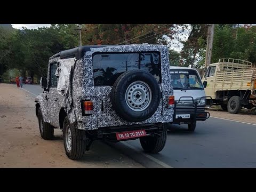
M 207 110 L 212 117 L 219 117 L 225 119 L 231 119 L 235 121 L 256 124 L 256 112 L 255 110 L 242 109 L 238 114 L 230 114 L 228 111 L 222 110 L 219 106 L 213 106 L 210 110 Z

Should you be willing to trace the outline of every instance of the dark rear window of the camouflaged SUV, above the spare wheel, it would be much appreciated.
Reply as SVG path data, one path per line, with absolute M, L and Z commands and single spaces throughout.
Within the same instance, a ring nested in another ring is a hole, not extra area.
M 159 52 L 94 53 L 92 63 L 95 86 L 112 86 L 121 74 L 132 69 L 147 70 L 161 83 Z

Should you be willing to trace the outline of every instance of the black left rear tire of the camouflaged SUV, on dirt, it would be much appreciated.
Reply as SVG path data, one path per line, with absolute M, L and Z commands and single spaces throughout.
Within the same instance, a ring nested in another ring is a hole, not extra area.
M 68 130 L 71 133 L 71 148 L 68 146 Z M 63 123 L 63 142 L 68 158 L 76 160 L 83 158 L 86 151 L 86 143 L 83 140 L 84 131 L 77 129 L 77 123 L 70 124 L 68 117 L 65 117 Z

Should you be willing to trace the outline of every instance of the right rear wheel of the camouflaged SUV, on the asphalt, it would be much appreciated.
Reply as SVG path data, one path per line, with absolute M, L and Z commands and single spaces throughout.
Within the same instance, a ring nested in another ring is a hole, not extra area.
M 158 153 L 163 150 L 167 138 L 167 129 L 164 127 L 162 135 L 146 136 L 140 138 L 140 144 L 146 153 Z

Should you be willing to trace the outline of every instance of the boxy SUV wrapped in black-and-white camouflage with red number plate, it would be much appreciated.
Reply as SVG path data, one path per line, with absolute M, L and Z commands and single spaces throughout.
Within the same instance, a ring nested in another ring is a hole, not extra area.
M 148 153 L 166 142 L 174 97 L 169 50 L 164 45 L 79 46 L 49 59 L 36 116 L 43 139 L 61 129 L 70 159 L 92 141 L 140 139 Z

